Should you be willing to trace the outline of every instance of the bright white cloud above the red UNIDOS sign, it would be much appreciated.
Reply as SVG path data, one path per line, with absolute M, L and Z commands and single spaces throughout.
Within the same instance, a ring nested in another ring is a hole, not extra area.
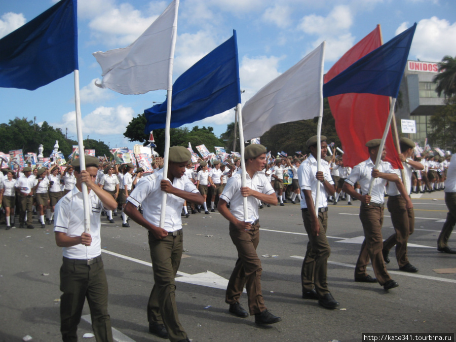
M 409 26 L 409 23 L 402 23 L 397 28 L 396 34 Z M 456 56 L 456 22 L 451 24 L 437 17 L 420 20 L 416 25 L 408 58 L 440 62 L 446 55 Z

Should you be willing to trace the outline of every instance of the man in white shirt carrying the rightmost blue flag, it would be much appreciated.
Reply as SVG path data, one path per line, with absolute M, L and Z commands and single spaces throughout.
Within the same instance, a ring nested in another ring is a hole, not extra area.
M 387 181 L 395 182 L 401 195 L 407 197 L 405 188 L 402 185 L 398 175 L 394 173 L 391 164 L 384 162 L 386 157 L 385 148 L 379 151 L 381 139 L 369 140 L 366 143 L 369 159 L 356 165 L 353 168 L 350 176 L 344 183 L 343 191 L 353 196 L 361 202 L 359 218 L 363 225 L 364 241 L 361 245 L 358 261 L 355 267 L 355 281 L 374 283 L 378 282 L 385 290 L 398 287 L 399 284 L 391 279 L 383 260 L 382 248 L 382 225 L 384 212 L 384 192 Z M 378 169 L 373 169 L 378 153 L 382 154 L 382 161 L 378 165 Z M 369 183 L 373 180 L 372 192 L 369 193 Z M 365 195 L 358 194 L 354 189 L 354 184 L 359 182 L 361 191 Z M 400 184 L 400 185 L 399 185 Z M 372 268 L 375 273 L 375 278 L 372 278 L 366 273 L 366 267 L 369 263 L 369 258 L 372 262 Z

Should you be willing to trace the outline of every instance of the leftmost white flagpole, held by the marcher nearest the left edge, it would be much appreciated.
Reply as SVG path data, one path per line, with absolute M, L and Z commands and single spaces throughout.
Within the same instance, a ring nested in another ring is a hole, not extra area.
M 86 160 L 84 153 L 84 139 L 81 127 L 81 97 L 79 94 L 79 70 L 74 70 L 74 102 L 76 106 L 76 131 L 78 135 L 79 160 L 81 171 L 86 169 Z M 84 232 L 90 233 L 90 208 L 89 208 L 89 191 L 86 183 L 82 183 L 83 204 L 84 204 Z

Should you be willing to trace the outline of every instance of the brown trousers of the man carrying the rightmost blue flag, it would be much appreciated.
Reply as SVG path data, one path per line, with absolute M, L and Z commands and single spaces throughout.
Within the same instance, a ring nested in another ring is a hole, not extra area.
M 366 267 L 370 259 L 375 277 L 382 286 L 391 279 L 382 255 L 383 210 L 383 207 L 374 206 L 373 203 L 370 205 L 361 203 L 359 218 L 363 225 L 364 241 L 355 267 L 355 278 L 365 277 L 367 275 Z

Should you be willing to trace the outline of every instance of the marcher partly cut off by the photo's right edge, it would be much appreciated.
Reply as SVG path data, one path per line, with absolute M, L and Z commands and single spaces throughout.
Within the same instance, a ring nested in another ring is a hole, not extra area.
M 456 154 L 451 157 L 446 173 L 445 204 L 448 208 L 445 223 L 437 239 L 437 250 L 442 253 L 456 254 L 455 249 L 448 247 L 448 239 L 456 224 Z

